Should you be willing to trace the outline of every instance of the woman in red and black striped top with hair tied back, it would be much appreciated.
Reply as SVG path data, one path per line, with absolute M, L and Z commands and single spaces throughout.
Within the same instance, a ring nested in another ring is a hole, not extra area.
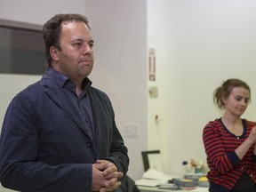
M 215 90 L 213 100 L 224 115 L 206 124 L 203 132 L 209 191 L 256 191 L 255 122 L 241 118 L 251 101 L 250 87 L 228 79 Z

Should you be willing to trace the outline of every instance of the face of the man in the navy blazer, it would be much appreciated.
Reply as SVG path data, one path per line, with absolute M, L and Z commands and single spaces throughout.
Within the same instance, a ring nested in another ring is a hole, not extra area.
M 52 67 L 71 80 L 81 81 L 93 67 L 93 40 L 84 22 L 68 21 L 61 24 L 60 50 L 56 51 Z

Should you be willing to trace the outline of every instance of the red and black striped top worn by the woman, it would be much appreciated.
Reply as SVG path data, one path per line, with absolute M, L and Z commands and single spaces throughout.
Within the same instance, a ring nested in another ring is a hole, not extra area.
M 255 126 L 255 122 L 243 119 L 244 132 L 236 137 L 228 131 L 221 119 L 206 124 L 203 132 L 204 148 L 207 164 L 210 168 L 207 177 L 214 186 L 231 189 L 241 174 L 248 174 L 256 182 L 256 156 L 253 155 L 254 144 L 249 148 L 242 160 L 235 149 L 246 140 Z

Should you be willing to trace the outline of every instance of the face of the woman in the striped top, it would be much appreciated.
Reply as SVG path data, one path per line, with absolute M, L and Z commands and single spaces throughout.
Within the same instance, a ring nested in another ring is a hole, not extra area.
M 225 113 L 231 116 L 240 117 L 248 107 L 251 101 L 250 92 L 244 87 L 235 87 L 230 92 L 227 99 L 224 99 Z

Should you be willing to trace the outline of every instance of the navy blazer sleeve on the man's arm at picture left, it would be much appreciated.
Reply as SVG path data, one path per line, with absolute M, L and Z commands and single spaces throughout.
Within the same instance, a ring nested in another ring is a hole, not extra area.
M 36 110 L 24 95 L 10 103 L 0 140 L 0 180 L 4 188 L 18 191 L 88 191 L 92 164 L 50 165 L 36 159 L 40 130 Z

